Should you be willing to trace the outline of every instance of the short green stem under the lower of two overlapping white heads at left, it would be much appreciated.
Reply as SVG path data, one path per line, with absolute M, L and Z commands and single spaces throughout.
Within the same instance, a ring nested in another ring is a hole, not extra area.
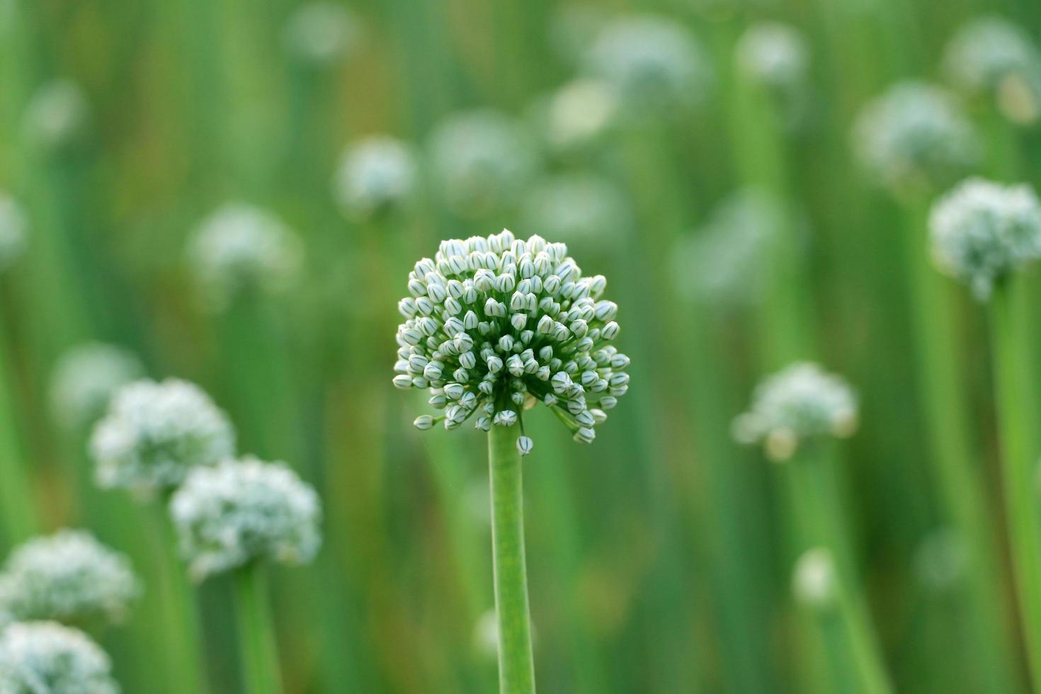
M 235 571 L 235 613 L 243 676 L 249 694 L 279 694 L 282 677 L 278 667 L 275 627 L 268 602 L 262 568 L 250 564 Z

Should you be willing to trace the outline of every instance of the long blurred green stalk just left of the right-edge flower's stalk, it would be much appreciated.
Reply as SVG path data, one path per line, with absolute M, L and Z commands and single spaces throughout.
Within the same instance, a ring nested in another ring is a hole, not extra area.
M 968 434 L 953 287 L 929 259 L 925 201 L 907 203 L 904 213 L 905 267 L 922 426 L 940 502 L 966 550 L 960 606 L 970 647 L 964 658 L 972 663 L 968 670 L 979 677 L 977 691 L 1010 692 L 1016 685 L 1010 661 L 1009 616 L 1001 595 L 1001 563 L 994 549 L 997 535 L 987 512 L 986 485 Z

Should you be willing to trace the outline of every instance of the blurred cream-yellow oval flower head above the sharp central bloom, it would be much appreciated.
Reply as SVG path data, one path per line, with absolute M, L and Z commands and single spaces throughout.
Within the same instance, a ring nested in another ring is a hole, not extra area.
M 542 112 L 547 143 L 556 151 L 572 151 L 598 142 L 614 123 L 618 99 L 603 80 L 576 79 L 552 94 Z

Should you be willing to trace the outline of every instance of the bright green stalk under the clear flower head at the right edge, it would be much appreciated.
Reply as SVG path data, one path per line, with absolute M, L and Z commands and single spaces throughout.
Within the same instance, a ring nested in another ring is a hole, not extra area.
M 1041 692 L 1041 514 L 1037 498 L 1039 414 L 1035 346 L 1026 337 L 1031 297 L 1026 278 L 1007 277 L 991 298 L 991 353 L 1006 522 L 1026 658 L 1034 691 Z

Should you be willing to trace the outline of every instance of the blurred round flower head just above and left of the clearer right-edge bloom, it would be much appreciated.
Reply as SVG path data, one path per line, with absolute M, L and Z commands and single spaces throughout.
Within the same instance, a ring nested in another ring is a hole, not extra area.
M 892 190 L 943 185 L 975 161 L 977 146 L 943 89 L 900 82 L 861 111 L 855 146 L 865 169 Z

